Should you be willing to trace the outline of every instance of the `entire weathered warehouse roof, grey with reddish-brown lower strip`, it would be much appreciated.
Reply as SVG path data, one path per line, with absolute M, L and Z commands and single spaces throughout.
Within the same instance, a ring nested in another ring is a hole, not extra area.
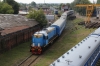
M 32 27 L 37 24 L 35 20 L 29 20 L 25 16 L 0 14 L 0 32 L 2 35 Z

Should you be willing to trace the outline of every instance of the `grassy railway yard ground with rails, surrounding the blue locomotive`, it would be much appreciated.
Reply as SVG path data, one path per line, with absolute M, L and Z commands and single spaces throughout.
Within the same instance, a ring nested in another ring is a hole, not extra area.
M 2 66 L 49 66 L 54 60 L 75 46 L 78 42 L 88 36 L 96 28 L 85 28 L 78 25 L 84 19 L 77 16 L 74 20 L 68 20 L 66 29 L 62 35 L 42 54 L 31 55 L 29 42 L 18 45 L 10 51 L 0 55 L 0 65 Z M 97 66 L 100 66 L 100 62 Z

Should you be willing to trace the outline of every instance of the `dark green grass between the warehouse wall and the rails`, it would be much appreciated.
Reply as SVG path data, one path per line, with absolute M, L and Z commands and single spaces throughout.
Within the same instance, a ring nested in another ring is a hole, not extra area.
M 14 47 L 10 51 L 4 52 L 0 55 L 1 66 L 17 66 L 20 61 L 30 55 L 30 42 L 23 43 Z

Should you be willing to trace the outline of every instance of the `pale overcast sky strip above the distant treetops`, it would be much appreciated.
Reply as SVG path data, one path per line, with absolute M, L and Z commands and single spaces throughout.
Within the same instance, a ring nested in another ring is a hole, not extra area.
M 36 2 L 36 3 L 71 3 L 74 0 L 15 0 L 17 2 L 21 2 L 21 3 L 31 3 L 32 1 Z M 93 2 L 93 0 L 90 0 L 91 2 Z M 97 1 L 97 0 L 94 0 Z

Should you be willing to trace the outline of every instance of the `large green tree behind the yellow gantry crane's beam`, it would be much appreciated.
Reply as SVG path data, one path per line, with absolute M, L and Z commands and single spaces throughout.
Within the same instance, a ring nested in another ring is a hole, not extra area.
M 71 8 L 73 8 L 79 14 L 85 15 L 86 7 L 75 7 L 77 4 L 91 4 L 91 3 L 89 0 L 74 0 L 74 2 L 71 3 Z

